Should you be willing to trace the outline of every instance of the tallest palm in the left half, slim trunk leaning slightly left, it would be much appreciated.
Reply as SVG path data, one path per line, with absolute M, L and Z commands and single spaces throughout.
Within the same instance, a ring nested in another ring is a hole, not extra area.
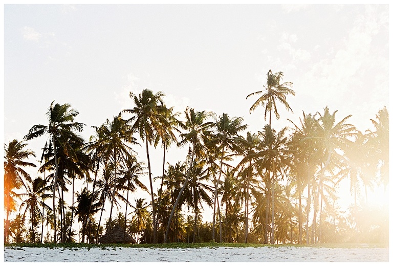
M 133 109 L 122 110 L 121 113 L 132 114 L 133 117 L 128 121 L 134 121 L 133 129 L 138 130 L 139 137 L 146 144 L 146 156 L 147 156 L 147 167 L 149 170 L 149 181 L 150 181 L 150 194 L 152 203 L 152 213 L 153 213 L 153 241 L 157 243 L 157 223 L 156 223 L 156 205 L 154 201 L 154 191 L 151 178 L 151 166 L 149 157 L 149 144 L 154 140 L 155 133 L 158 127 L 166 126 L 164 119 L 164 106 L 162 92 L 154 94 L 152 91 L 145 88 L 142 94 L 137 97 L 133 93 L 129 93 L 129 97 L 134 100 L 135 107 Z M 159 105 L 161 104 L 161 105 Z

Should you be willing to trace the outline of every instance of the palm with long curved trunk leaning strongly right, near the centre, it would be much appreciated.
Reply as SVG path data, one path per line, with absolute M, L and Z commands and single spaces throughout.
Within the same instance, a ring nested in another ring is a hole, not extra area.
M 183 133 L 180 135 L 180 138 L 182 140 L 178 143 L 178 146 L 183 146 L 187 142 L 192 143 L 192 152 L 191 152 L 191 159 L 190 159 L 190 166 L 188 167 L 187 173 L 186 173 L 186 179 L 184 181 L 183 187 L 179 192 L 179 195 L 176 199 L 176 202 L 173 205 L 172 211 L 169 216 L 169 221 L 168 225 L 166 227 L 166 232 L 165 232 L 165 239 L 164 243 L 167 243 L 168 241 L 168 232 L 170 228 L 170 221 L 173 217 L 174 210 L 176 210 L 176 207 L 179 203 L 180 197 L 184 191 L 184 189 L 187 186 L 188 178 L 190 176 L 190 171 L 192 168 L 192 165 L 194 163 L 194 155 L 195 151 L 201 151 L 203 150 L 203 137 L 206 135 L 210 134 L 209 129 L 214 126 L 213 122 L 206 122 L 206 119 L 211 117 L 213 114 L 209 112 L 195 112 L 193 108 L 188 108 L 185 111 L 186 115 L 186 122 L 181 123 L 181 127 L 187 130 L 188 132 Z M 189 148 L 190 151 L 191 148 Z M 190 152 L 189 152 L 190 153 Z

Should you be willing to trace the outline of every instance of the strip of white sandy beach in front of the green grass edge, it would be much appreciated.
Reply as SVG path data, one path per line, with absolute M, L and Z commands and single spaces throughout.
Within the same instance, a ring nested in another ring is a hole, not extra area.
M 5 262 L 388 262 L 388 248 L 4 248 Z

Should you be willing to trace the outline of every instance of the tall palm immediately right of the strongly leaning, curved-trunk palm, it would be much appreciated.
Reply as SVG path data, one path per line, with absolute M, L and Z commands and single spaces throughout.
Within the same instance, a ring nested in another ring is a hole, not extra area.
M 217 180 L 214 180 L 214 198 L 217 198 L 217 186 L 218 182 L 220 182 L 221 174 L 223 171 L 223 160 L 224 154 L 227 150 L 235 151 L 237 148 L 237 140 L 239 137 L 239 132 L 246 129 L 247 125 L 242 125 L 243 118 L 235 117 L 230 118 L 227 114 L 223 114 L 220 116 L 219 120 L 215 122 L 217 133 L 212 136 L 212 140 L 207 143 L 207 145 L 216 145 L 220 149 L 221 158 L 220 158 L 220 173 Z M 215 203 L 213 207 L 213 228 L 215 225 Z M 214 230 L 213 230 L 214 232 Z M 213 235 L 214 239 L 214 235 Z M 221 232 L 221 222 L 220 222 L 220 242 L 222 242 L 222 232 Z

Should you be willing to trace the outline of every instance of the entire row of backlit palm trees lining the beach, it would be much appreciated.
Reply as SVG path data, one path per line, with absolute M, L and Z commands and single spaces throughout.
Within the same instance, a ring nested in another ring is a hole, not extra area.
M 5 243 L 97 243 L 115 225 L 140 243 L 385 241 L 388 214 L 361 218 L 381 209 L 368 208 L 359 197 L 363 189 L 367 196 L 367 189 L 388 185 L 386 107 L 364 133 L 348 123 L 351 115 L 336 121 L 337 110 L 327 106 L 275 129 L 276 105 L 292 112 L 287 96 L 295 96 L 282 77 L 270 70 L 263 90 L 246 97 L 258 96 L 250 113 L 262 106 L 269 118 L 258 132 L 245 132 L 243 118 L 226 113 L 190 107 L 175 113 L 162 92 L 146 88 L 130 93 L 134 106 L 94 126 L 86 141 L 77 110 L 53 101 L 47 125 L 33 125 L 24 140 L 5 144 Z M 41 136 L 48 138 L 37 166 L 29 162 L 36 154 L 27 141 Z M 147 165 L 134 150 L 142 145 Z M 166 162 L 173 145 L 188 146 L 184 161 Z M 160 176 L 151 173 L 152 147 L 163 152 Z M 31 176 L 27 167 L 38 167 L 40 176 Z M 143 175 L 148 184 L 140 181 Z M 353 196 L 350 215 L 337 206 L 337 187 L 345 179 Z M 83 181 L 77 191 L 76 180 Z M 139 190 L 150 198 L 130 201 Z M 202 222 L 205 208 L 213 210 L 211 222 Z

